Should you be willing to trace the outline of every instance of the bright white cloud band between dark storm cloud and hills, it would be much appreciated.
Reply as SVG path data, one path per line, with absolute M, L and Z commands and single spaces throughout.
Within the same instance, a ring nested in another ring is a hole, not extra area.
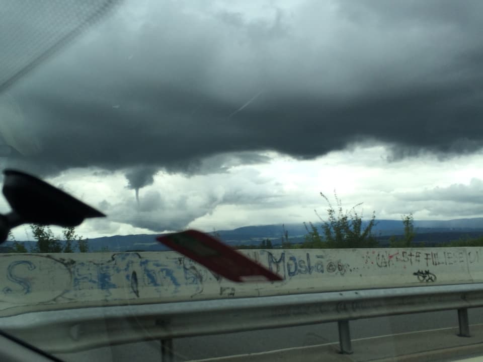
M 85 237 L 145 234 L 186 227 L 205 231 L 246 225 L 315 221 L 324 216 L 324 192 L 334 201 L 336 189 L 344 208 L 363 202 L 369 218 L 454 219 L 482 216 L 481 155 L 438 160 L 434 156 L 387 162 L 384 146 L 354 146 L 316 160 L 295 160 L 268 153 L 268 163 L 228 167 L 226 172 L 185 176 L 159 172 L 140 189 L 139 206 L 124 172 L 71 169 L 48 179 L 108 214 L 78 228 Z M 0 201 L 4 211 L 8 209 Z M 24 240 L 25 231 L 16 231 Z

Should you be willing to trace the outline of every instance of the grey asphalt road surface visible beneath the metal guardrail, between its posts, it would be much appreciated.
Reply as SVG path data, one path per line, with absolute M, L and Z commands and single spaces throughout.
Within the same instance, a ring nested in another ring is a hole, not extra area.
M 469 309 L 470 324 L 483 323 L 483 308 Z M 351 321 L 352 339 L 457 327 L 456 310 Z M 223 335 L 180 338 L 174 340 L 176 361 L 262 352 L 338 341 L 337 323 L 265 329 Z M 370 341 L 368 341 L 370 343 Z M 90 351 L 59 354 L 67 361 L 126 361 L 141 359 L 159 362 L 158 341 L 96 348 Z

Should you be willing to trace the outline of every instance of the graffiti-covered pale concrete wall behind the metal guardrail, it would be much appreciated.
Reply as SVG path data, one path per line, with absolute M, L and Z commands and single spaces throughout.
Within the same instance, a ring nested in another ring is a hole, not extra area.
M 285 280 L 230 282 L 176 252 L 0 255 L 0 316 L 89 306 L 483 282 L 481 248 L 242 252 Z

